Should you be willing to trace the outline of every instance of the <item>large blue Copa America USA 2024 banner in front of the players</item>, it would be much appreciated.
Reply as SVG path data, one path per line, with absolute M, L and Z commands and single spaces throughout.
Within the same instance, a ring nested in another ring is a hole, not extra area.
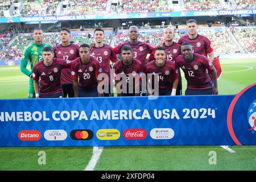
M 225 96 L 0 100 L 0 146 L 256 144 L 256 84 Z

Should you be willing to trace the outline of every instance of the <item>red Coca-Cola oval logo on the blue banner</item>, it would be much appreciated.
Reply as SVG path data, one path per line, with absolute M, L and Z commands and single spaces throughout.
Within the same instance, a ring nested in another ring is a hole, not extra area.
M 128 140 L 141 140 L 147 137 L 147 131 L 144 129 L 126 129 L 123 131 L 123 137 Z

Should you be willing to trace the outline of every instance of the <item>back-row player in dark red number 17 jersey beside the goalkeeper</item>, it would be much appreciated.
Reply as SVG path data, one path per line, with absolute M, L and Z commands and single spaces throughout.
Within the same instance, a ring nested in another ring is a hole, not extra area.
M 53 48 L 54 57 L 64 60 L 75 60 L 79 57 L 79 46 L 70 43 L 71 32 L 68 28 L 61 28 L 61 44 Z M 64 97 L 74 97 L 73 80 L 70 69 L 62 69 L 60 83 L 62 85 Z

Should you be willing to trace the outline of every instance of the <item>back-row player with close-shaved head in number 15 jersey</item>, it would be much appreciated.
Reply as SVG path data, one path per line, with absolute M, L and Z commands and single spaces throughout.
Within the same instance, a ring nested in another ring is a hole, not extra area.
M 181 55 L 180 52 L 180 44 L 177 44 L 173 41 L 174 38 L 174 29 L 167 27 L 164 29 L 164 43 L 159 44 L 159 46 L 162 46 L 164 50 L 166 51 L 166 56 L 168 61 L 172 61 L 174 63 L 177 56 Z M 155 60 L 155 51 L 153 51 L 148 57 L 148 61 Z M 179 71 L 180 72 L 180 71 Z M 176 96 L 181 96 L 182 94 L 182 82 L 181 82 L 181 76 L 179 77 L 179 84 L 177 86 L 176 90 Z

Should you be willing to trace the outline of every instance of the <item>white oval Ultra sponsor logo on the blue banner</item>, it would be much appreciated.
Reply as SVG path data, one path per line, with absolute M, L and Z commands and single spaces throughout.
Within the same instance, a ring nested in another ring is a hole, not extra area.
M 65 140 L 68 137 L 68 134 L 65 130 L 46 130 L 44 132 L 44 138 L 46 140 Z

